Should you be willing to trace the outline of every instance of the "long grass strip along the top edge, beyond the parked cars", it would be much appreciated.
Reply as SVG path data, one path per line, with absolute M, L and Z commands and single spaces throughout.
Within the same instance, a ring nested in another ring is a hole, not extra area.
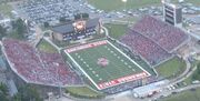
M 128 0 L 127 4 L 121 0 L 88 0 L 88 2 L 98 9 L 106 11 L 123 10 L 124 8 L 136 9 L 161 3 L 160 0 Z

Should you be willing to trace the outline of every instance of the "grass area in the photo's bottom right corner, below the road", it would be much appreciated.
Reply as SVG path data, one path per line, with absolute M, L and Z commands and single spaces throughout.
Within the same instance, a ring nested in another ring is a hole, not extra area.
M 194 91 L 187 90 L 169 98 L 164 98 L 160 101 L 200 101 L 200 88 Z

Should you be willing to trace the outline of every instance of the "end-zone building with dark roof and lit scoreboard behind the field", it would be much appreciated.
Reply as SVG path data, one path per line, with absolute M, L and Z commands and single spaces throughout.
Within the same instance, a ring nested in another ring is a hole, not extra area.
M 77 20 L 70 23 L 56 26 L 52 29 L 52 39 L 63 40 L 78 40 L 92 34 L 100 33 L 101 23 L 99 18 L 89 20 Z

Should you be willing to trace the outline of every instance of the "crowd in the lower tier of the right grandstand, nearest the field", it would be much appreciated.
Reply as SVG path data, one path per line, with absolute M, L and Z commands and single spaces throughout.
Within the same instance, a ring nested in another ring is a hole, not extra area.
M 141 54 L 152 65 L 158 64 L 159 62 L 171 57 L 170 53 L 168 53 L 152 40 L 133 30 L 129 30 L 128 34 L 126 34 L 121 41 Z

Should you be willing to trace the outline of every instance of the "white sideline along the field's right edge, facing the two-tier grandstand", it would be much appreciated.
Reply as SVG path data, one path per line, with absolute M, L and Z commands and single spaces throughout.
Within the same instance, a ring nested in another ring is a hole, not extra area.
M 123 54 L 126 58 L 128 58 L 131 62 L 133 62 L 137 67 L 139 67 L 141 70 L 146 71 L 146 73 L 148 73 L 149 75 L 151 75 L 147 70 L 144 70 L 142 67 L 140 67 L 136 61 L 133 61 L 132 59 L 130 59 L 127 54 L 124 54 L 121 50 L 119 50 L 116 46 L 113 46 L 111 42 L 109 42 L 107 40 L 107 42 L 112 46 L 116 50 L 118 50 L 121 54 Z

